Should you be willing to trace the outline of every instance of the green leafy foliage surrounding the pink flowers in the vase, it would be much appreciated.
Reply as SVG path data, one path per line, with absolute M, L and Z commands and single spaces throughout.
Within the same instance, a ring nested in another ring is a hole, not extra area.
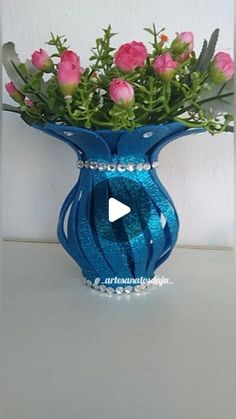
M 135 71 L 124 72 L 114 63 L 115 48 L 111 45 L 111 25 L 103 29 L 103 36 L 96 39 L 92 48 L 90 65 L 81 75 L 76 93 L 65 100 L 57 80 L 58 59 L 68 49 L 67 39 L 54 36 L 48 45 L 54 48 L 54 69 L 49 80 L 44 73 L 35 69 L 31 61 L 22 63 L 14 44 L 3 46 L 3 64 L 6 72 L 33 106 L 12 107 L 4 105 L 4 110 L 20 113 L 27 124 L 54 123 L 81 126 L 88 129 L 133 130 L 142 125 L 160 124 L 177 120 L 190 127 L 204 127 L 212 134 L 232 131 L 233 81 L 215 85 L 208 73 L 212 61 L 219 30 L 216 29 L 210 41 L 203 43 L 199 57 L 192 52 L 188 59 L 181 60 L 187 51 L 187 44 L 180 44 L 177 37 L 172 42 L 157 31 L 155 24 L 144 29 L 152 37 L 152 51 L 146 63 Z M 153 69 L 154 59 L 170 52 L 178 61 L 175 76 L 163 82 Z M 114 78 L 130 83 L 135 100 L 130 105 L 114 103 L 109 95 L 109 86 Z

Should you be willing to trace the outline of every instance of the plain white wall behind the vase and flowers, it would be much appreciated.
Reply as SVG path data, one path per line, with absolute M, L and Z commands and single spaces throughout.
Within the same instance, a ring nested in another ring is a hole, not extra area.
M 197 50 L 219 27 L 219 49 L 231 51 L 232 20 L 231 0 L 224 7 L 222 0 L 3 0 L 3 41 L 15 42 L 23 59 L 43 47 L 50 31 L 66 34 L 86 65 L 90 47 L 109 23 L 120 32 L 117 46 L 148 42 L 142 28 L 155 21 L 170 36 L 192 30 Z M 179 244 L 233 245 L 233 136 L 186 137 L 170 144 L 160 160 L 160 177 L 180 215 Z M 4 114 L 3 173 L 3 236 L 55 239 L 60 205 L 77 176 L 73 152 Z

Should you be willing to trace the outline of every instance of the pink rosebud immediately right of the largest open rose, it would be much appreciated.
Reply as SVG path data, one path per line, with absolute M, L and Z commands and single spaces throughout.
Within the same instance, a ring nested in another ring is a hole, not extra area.
M 169 81 L 173 78 L 177 66 L 177 61 L 173 60 L 169 52 L 165 52 L 155 59 L 153 69 L 161 80 Z

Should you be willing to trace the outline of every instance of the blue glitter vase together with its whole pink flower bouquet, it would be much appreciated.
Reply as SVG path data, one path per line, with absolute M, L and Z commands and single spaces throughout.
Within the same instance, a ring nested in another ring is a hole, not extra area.
M 160 151 L 183 136 L 233 131 L 233 60 L 217 52 L 219 31 L 197 57 L 192 32 L 169 41 L 155 25 L 145 29 L 151 50 L 132 41 L 115 49 L 111 26 L 96 40 L 90 65 L 64 36 L 20 62 L 3 47 L 9 95 L 34 128 L 68 144 L 80 175 L 62 206 L 58 238 L 80 265 L 87 285 L 109 294 L 141 291 L 169 257 L 179 219 L 157 176 Z M 108 217 L 110 199 L 130 211 Z

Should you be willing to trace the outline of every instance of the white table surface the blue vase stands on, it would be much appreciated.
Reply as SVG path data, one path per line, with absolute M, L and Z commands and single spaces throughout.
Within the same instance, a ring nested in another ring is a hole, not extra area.
M 3 419 L 233 419 L 233 252 L 108 296 L 57 244 L 3 243 Z

